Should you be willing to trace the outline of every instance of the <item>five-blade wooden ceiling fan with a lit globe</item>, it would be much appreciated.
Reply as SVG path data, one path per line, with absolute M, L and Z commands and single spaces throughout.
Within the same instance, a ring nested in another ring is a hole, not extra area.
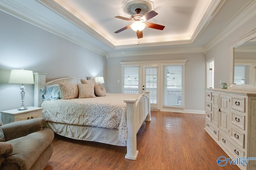
M 122 19 L 122 20 L 133 22 L 131 25 L 123 27 L 123 28 L 117 30 L 115 33 L 120 33 L 121 31 L 124 31 L 124 30 L 131 27 L 134 31 L 136 31 L 137 37 L 138 37 L 138 39 L 140 39 L 140 38 L 143 37 L 142 30 L 145 27 L 160 29 L 160 30 L 164 29 L 165 26 L 163 26 L 163 25 L 158 25 L 158 24 L 155 24 L 155 23 L 145 22 L 145 21 L 153 18 L 154 16 L 158 15 L 158 13 L 156 13 L 154 11 L 150 11 L 147 14 L 143 15 L 143 14 L 140 14 L 140 12 L 141 12 L 140 8 L 136 8 L 135 12 L 136 12 L 136 14 L 132 15 L 130 18 L 125 18 L 125 17 L 122 17 L 122 16 L 116 16 L 115 17 L 115 18 L 119 18 L 119 19 Z

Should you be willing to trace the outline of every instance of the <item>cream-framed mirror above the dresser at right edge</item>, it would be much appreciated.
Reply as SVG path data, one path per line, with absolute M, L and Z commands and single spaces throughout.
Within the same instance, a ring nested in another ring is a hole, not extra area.
M 256 90 L 256 29 L 230 44 L 230 84 L 236 90 Z

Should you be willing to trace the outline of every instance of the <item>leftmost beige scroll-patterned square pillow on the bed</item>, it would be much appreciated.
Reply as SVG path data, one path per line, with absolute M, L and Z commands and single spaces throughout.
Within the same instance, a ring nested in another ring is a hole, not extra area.
M 78 86 L 75 83 L 60 82 L 60 99 L 78 98 Z

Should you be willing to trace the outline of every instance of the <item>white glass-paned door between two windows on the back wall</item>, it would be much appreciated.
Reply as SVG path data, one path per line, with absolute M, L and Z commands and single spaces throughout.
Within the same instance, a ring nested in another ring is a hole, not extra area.
M 160 65 L 142 65 L 142 93 L 150 91 L 151 109 L 160 110 Z

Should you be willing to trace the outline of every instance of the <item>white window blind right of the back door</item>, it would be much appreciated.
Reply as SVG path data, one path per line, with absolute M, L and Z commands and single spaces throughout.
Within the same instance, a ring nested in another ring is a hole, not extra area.
M 163 66 L 163 106 L 184 107 L 184 65 Z

